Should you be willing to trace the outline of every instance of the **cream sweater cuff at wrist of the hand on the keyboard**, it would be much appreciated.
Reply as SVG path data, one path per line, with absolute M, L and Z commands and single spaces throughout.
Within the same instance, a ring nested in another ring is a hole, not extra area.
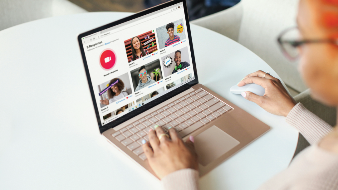
M 198 171 L 194 169 L 181 169 L 172 172 L 161 180 L 164 190 L 199 190 Z

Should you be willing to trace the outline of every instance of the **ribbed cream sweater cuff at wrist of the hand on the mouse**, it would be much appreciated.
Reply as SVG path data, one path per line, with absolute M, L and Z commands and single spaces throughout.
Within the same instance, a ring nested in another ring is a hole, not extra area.
M 295 105 L 286 116 L 286 122 L 295 127 L 311 145 L 332 131 L 331 125 L 307 110 L 303 104 Z

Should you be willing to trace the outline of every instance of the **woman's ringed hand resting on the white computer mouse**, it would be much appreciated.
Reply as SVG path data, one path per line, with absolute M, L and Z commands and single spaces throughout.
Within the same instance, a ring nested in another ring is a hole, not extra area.
M 265 77 L 263 78 L 264 75 Z M 247 100 L 257 103 L 271 114 L 286 117 L 297 104 L 278 78 L 263 71 L 257 71 L 245 76 L 237 86 L 242 87 L 250 83 L 262 86 L 265 89 L 264 96 L 258 96 L 249 91 L 242 92 L 242 96 Z

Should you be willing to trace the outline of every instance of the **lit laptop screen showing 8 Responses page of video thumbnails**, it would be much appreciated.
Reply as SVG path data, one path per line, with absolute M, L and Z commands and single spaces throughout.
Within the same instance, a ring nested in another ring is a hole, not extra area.
M 195 79 L 185 3 L 177 2 L 80 34 L 100 127 Z

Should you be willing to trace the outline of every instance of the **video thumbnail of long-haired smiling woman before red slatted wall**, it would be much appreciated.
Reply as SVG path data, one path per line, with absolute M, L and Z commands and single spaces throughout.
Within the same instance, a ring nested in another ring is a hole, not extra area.
M 132 37 L 124 41 L 128 62 L 135 61 L 140 57 L 157 51 L 156 37 L 153 30 Z

